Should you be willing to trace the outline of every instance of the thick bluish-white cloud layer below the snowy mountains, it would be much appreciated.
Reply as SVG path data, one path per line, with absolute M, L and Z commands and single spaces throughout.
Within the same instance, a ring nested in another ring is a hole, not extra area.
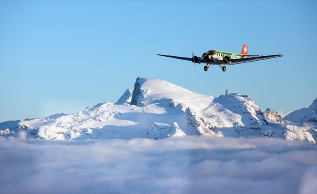
M 1 193 L 315 193 L 317 146 L 209 136 L 0 137 Z

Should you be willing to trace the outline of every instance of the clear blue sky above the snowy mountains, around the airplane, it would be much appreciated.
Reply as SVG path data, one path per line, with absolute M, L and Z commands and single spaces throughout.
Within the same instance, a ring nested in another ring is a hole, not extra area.
M 317 98 L 317 1 L 0 1 L 0 122 L 115 103 L 137 77 L 287 113 Z M 213 66 L 210 49 L 284 57 Z

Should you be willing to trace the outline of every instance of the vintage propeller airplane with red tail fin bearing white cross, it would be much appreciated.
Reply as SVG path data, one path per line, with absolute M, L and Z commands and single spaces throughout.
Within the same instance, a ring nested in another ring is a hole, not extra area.
M 264 59 L 271 59 L 276 57 L 282 57 L 284 55 L 277 54 L 277 55 L 248 55 L 247 54 L 247 45 L 243 45 L 241 54 L 238 53 L 232 53 L 227 52 L 223 50 L 209 50 L 208 52 L 204 52 L 201 57 L 194 56 L 192 58 L 188 57 L 177 57 L 177 56 L 171 56 L 171 55 L 162 55 L 157 54 L 159 56 L 163 57 L 170 57 L 175 59 L 181 59 L 186 61 L 191 61 L 194 64 L 206 64 L 204 66 L 204 70 L 208 71 L 208 68 L 212 65 L 219 65 L 222 68 L 222 71 L 226 71 L 225 65 L 235 65 L 235 64 L 242 64 L 242 63 L 248 63 L 253 61 L 260 61 Z

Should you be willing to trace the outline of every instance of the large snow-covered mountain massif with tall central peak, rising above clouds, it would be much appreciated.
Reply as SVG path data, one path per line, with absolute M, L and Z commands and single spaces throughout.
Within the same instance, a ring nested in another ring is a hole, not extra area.
M 306 121 L 315 120 L 303 120 Z M 316 143 L 315 129 L 312 126 L 307 129 L 292 119 L 285 122 L 270 109 L 263 112 L 247 95 L 206 96 L 167 81 L 142 77 L 137 78 L 134 90 L 127 89 L 115 104 L 106 102 L 75 114 L 0 123 L 2 135 L 15 135 L 24 130 L 30 137 L 59 140 L 162 139 L 208 134 Z

